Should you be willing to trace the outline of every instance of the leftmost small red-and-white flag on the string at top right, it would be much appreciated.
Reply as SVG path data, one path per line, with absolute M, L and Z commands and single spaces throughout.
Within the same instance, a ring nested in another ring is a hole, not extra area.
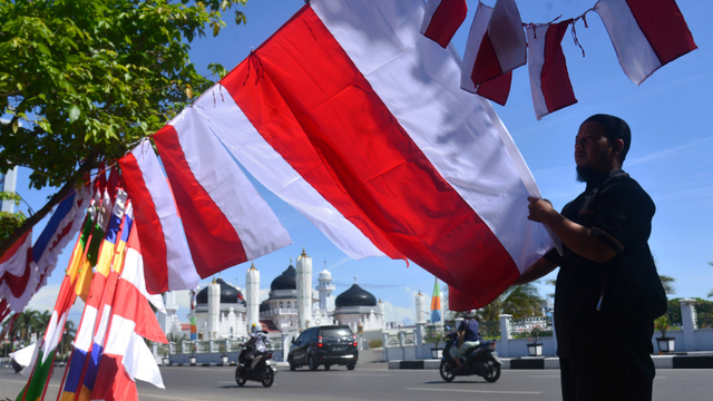
M 446 48 L 466 16 L 466 0 L 428 0 L 421 33 Z

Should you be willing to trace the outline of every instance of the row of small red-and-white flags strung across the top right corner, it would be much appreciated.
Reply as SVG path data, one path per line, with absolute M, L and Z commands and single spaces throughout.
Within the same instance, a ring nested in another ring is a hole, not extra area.
M 561 40 L 572 26 L 578 45 L 575 23 L 582 19 L 586 27 L 589 11 L 602 18 L 624 72 L 636 85 L 696 49 L 675 0 L 599 0 L 577 18 L 527 25 L 515 0 L 497 0 L 492 8 L 479 1 L 463 55 L 461 88 L 505 106 L 512 70 L 527 63 L 538 119 L 574 105 Z M 466 0 L 428 0 L 421 32 L 446 48 L 466 14 Z

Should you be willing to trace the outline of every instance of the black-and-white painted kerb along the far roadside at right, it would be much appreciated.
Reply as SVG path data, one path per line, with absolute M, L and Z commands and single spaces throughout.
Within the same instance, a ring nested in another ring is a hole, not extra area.
M 652 355 L 656 369 L 713 369 L 713 352 L 677 352 L 666 355 Z M 433 369 L 438 370 L 440 360 L 389 361 L 389 369 Z M 501 369 L 559 369 L 557 356 L 502 358 Z

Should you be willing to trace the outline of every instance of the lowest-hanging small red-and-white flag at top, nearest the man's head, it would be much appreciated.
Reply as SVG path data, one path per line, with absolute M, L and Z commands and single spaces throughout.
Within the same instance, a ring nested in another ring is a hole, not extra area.
M 577 102 L 572 89 L 561 38 L 572 20 L 527 27 L 530 90 L 537 119 Z

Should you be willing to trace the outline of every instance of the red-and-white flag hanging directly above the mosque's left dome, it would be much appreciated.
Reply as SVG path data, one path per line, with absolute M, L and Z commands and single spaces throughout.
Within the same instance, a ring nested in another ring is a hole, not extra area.
M 183 110 L 154 140 L 201 277 L 292 243 L 195 109 Z

